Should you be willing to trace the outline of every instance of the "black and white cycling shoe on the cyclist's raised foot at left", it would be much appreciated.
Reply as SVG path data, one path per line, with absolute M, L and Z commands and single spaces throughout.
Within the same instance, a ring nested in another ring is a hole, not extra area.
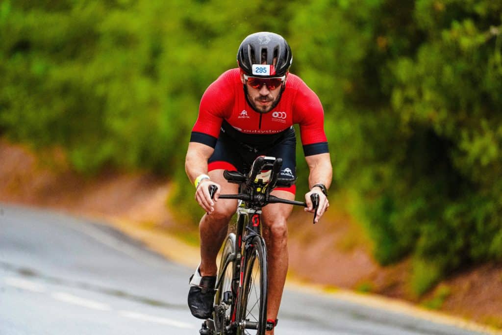
M 199 268 L 190 277 L 190 291 L 188 291 L 188 307 L 192 315 L 199 319 L 211 317 L 214 302 L 214 285 L 216 276 L 200 275 Z

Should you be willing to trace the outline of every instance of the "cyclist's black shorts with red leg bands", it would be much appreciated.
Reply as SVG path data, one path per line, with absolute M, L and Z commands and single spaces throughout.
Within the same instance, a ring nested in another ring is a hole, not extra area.
M 254 138 L 265 140 L 249 144 L 232 137 L 231 130 L 220 132 L 214 152 L 208 160 L 208 171 L 223 169 L 239 171 L 247 174 L 253 161 L 261 155 L 280 157 L 283 165 L 279 178 L 296 178 L 296 135 L 294 128 L 289 128 L 277 136 L 259 135 Z M 277 187 L 275 190 L 296 192 L 296 185 L 291 187 Z

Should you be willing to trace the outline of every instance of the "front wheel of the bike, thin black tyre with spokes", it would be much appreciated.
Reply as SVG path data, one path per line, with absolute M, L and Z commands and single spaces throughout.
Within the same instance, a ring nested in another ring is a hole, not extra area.
M 261 236 L 248 242 L 237 311 L 237 335 L 265 335 L 267 326 L 267 249 Z M 255 328 L 256 327 L 256 328 Z

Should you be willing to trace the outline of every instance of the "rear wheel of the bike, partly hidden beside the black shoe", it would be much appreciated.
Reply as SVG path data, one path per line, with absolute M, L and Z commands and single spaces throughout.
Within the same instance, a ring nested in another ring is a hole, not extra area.
M 223 251 L 221 253 L 221 261 L 218 272 L 218 279 L 221 277 L 222 280 L 218 287 L 216 287 L 216 294 L 214 295 L 214 312 L 213 320 L 215 325 L 216 335 L 230 335 L 235 334 L 233 332 L 227 332 L 225 327 L 228 324 L 228 320 L 231 317 L 232 307 L 223 301 L 224 292 L 232 292 L 232 298 L 235 297 L 234 290 L 232 290 L 232 278 L 234 277 L 233 270 L 235 262 L 235 234 L 228 234 Z M 228 263 L 228 264 L 227 264 Z M 234 304 L 233 304 L 234 305 Z

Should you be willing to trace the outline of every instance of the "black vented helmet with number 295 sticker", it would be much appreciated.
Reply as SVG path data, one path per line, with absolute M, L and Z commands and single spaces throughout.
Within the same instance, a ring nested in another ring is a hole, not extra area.
M 275 33 L 251 34 L 240 43 L 237 51 L 237 64 L 249 76 L 281 77 L 289 70 L 292 62 L 293 55 L 288 42 Z M 269 67 L 259 66 L 264 64 Z

